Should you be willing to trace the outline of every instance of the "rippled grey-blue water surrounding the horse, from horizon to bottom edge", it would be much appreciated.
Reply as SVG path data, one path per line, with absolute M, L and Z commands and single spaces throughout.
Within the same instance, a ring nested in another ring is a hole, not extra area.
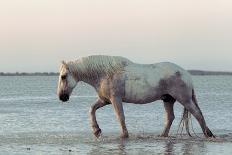
M 193 120 L 197 136 L 178 136 L 182 106 L 169 138 L 163 129 L 163 105 L 124 104 L 130 138 L 119 138 L 119 124 L 111 105 L 97 111 L 103 134 L 95 139 L 88 110 L 96 100 L 93 88 L 79 83 L 71 99 L 61 103 L 55 92 L 57 77 L 0 76 L 0 154 L 232 154 L 232 76 L 193 76 L 199 106 L 217 136 L 205 139 Z M 194 134 L 193 134 L 194 135 Z

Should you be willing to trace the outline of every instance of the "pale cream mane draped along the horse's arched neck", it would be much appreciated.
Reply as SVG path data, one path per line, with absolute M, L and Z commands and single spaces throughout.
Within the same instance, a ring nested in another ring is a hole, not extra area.
M 83 79 L 111 76 L 122 72 L 130 63 L 130 60 L 120 56 L 93 55 L 70 61 L 67 65 L 76 78 Z

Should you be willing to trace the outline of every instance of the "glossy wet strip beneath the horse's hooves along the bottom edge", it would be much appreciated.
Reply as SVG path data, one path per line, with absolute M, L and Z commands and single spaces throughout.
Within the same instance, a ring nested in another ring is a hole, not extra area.
M 18 135 L 0 136 L 0 150 L 16 149 L 28 151 L 31 154 L 40 152 L 54 152 L 59 148 L 62 154 L 231 154 L 231 134 L 218 135 L 218 139 L 206 138 L 160 138 L 151 134 L 132 135 L 129 139 L 122 140 L 117 134 L 105 136 L 94 140 L 90 135 L 76 135 L 76 133 L 22 133 Z M 230 135 L 230 136 L 228 136 Z M 87 137 L 85 137 L 87 136 Z M 38 147 L 39 146 L 39 147 Z M 30 148 L 30 149 L 27 149 Z M 18 151 L 17 150 L 17 151 Z M 34 153 L 34 152 L 35 153 Z M 4 154 L 4 153 L 3 153 Z M 23 153 L 22 153 L 23 154 Z M 48 153 L 49 154 L 49 153 Z M 59 153 L 57 153 L 59 154 Z

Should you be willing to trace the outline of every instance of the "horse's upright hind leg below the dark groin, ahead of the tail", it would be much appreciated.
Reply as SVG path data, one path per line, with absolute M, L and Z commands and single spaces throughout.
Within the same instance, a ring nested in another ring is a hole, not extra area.
M 165 109 L 165 128 L 160 136 L 168 137 L 168 133 L 171 128 L 172 122 L 175 119 L 173 106 L 176 100 L 170 95 L 162 96 L 161 99 L 164 102 Z

